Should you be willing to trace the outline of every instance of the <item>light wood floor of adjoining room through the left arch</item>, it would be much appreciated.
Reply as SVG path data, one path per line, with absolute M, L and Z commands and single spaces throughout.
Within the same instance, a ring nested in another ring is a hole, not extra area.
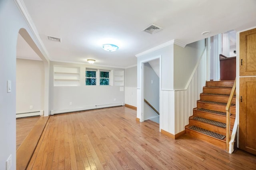
M 16 150 L 20 144 L 22 144 L 32 128 L 36 125 L 36 122 L 39 120 L 39 118 L 40 116 L 16 119 Z

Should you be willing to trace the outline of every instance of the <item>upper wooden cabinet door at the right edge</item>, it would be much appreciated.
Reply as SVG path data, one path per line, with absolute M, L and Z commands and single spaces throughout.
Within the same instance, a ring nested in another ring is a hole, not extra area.
M 256 75 L 256 28 L 240 33 L 240 76 Z

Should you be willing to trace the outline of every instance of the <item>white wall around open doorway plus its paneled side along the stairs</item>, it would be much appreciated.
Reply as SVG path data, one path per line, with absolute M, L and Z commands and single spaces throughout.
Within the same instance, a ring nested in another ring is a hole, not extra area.
M 188 44 L 185 48 L 171 44 L 138 57 L 139 68 L 144 61 L 160 56 L 160 79 L 162 79 L 160 129 L 171 134 L 177 134 L 184 130 L 188 122 L 188 115 L 192 113 L 190 108 L 194 106 L 199 93 L 202 91 L 201 82 L 204 81 L 205 83 L 206 81 L 204 77 L 206 75 L 206 63 L 202 68 L 196 67 L 199 65 L 200 56 L 205 47 L 204 43 L 204 40 L 200 40 Z M 198 68 L 200 68 L 199 71 Z M 137 117 L 140 119 L 142 119 L 141 77 L 141 69 L 138 69 Z M 186 88 L 188 87 L 190 90 L 187 91 Z

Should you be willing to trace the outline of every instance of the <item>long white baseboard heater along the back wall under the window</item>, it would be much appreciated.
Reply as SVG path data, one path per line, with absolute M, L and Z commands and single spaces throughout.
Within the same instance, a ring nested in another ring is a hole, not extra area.
M 51 115 L 59 114 L 59 113 L 85 111 L 85 110 L 90 110 L 90 109 L 100 109 L 100 108 L 114 107 L 114 106 L 124 106 L 124 103 L 110 103 L 110 104 L 104 104 L 104 105 L 93 105 L 93 106 L 86 106 L 86 107 L 77 107 L 77 108 L 72 108 L 72 109 L 52 110 Z

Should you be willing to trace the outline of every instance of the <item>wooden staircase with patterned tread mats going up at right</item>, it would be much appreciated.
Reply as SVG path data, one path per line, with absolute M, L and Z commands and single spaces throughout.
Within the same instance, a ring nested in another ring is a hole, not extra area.
M 186 134 L 226 149 L 226 105 L 233 84 L 234 81 L 206 81 L 197 107 L 185 127 Z M 236 96 L 232 99 L 230 113 L 232 129 L 236 118 Z

